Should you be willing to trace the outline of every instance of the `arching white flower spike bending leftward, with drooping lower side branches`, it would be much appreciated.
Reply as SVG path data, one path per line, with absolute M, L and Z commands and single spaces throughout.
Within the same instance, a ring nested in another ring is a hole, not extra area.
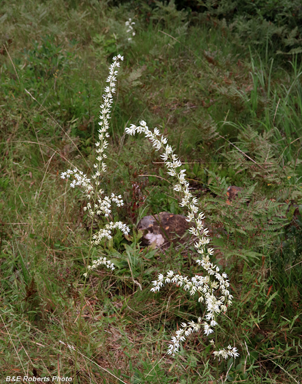
M 219 267 L 210 262 L 210 257 L 214 251 L 213 248 L 207 247 L 209 244 L 209 231 L 207 228 L 204 228 L 203 225 L 204 214 L 199 212 L 197 198 L 193 197 L 190 193 L 189 183 L 185 178 L 185 169 L 179 170 L 182 165 L 181 161 L 178 156 L 174 154 L 172 147 L 167 144 L 167 138 L 161 135 L 157 128 L 155 128 L 154 132 L 150 131 L 145 121 L 140 121 L 139 126 L 131 124 L 130 128 L 127 127 L 125 129 L 125 132 L 129 135 L 135 135 L 136 132 L 143 133 L 145 137 L 153 143 L 157 151 L 160 149 L 163 150 L 161 158 L 168 169 L 167 174 L 177 178 L 174 190 L 181 192 L 182 200 L 180 206 L 187 208 L 186 220 L 193 224 L 189 231 L 197 238 L 194 245 L 197 252 L 201 254 L 201 259 L 196 260 L 196 262 L 205 270 L 204 276 L 195 275 L 192 278 L 176 274 L 170 270 L 166 273 L 166 276 L 160 273 L 157 280 L 152 282 L 152 292 L 159 291 L 164 284 L 176 284 L 180 287 L 183 286 L 184 290 L 188 290 L 191 295 L 198 293 L 198 301 L 204 302 L 206 305 L 206 321 L 202 323 L 200 317 L 197 323 L 182 323 L 183 328 L 179 329 L 176 332 L 176 336 L 171 338 L 172 344 L 168 347 L 168 353 L 174 355 L 178 352 L 180 343 L 193 331 L 197 332 L 203 328 L 205 335 L 208 336 L 213 333 L 213 327 L 218 324 L 216 322 L 217 315 L 227 311 L 227 306 L 232 305 L 233 296 L 228 290 L 230 284 L 227 280 L 227 274 L 219 273 Z M 214 355 L 224 357 L 226 351 L 223 351 L 225 350 L 215 351 Z M 231 356 L 231 354 L 229 354 L 229 356 Z M 232 356 L 236 357 L 235 352 Z

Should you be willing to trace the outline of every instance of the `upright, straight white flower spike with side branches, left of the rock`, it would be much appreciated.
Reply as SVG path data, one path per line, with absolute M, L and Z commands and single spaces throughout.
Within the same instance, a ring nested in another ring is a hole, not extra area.
M 109 119 L 110 113 L 112 109 L 113 96 L 115 93 L 115 81 L 116 75 L 118 71 L 116 68 L 120 67 L 119 60 L 123 60 L 123 56 L 117 55 L 113 58 L 113 62 L 109 67 L 109 76 L 106 79 L 106 82 L 109 83 L 108 86 L 105 87 L 105 94 L 103 97 L 103 103 L 100 105 L 100 121 L 99 121 L 99 130 L 98 130 L 98 141 L 96 142 L 96 163 L 93 165 L 95 168 L 95 172 L 92 175 L 92 180 L 87 177 L 81 170 L 74 168 L 73 170 L 68 169 L 66 172 L 61 174 L 62 179 L 70 179 L 73 178 L 70 186 L 74 188 L 76 185 L 81 186 L 84 189 L 85 197 L 88 199 L 87 206 L 83 209 L 88 210 L 89 215 L 92 219 L 94 219 L 95 215 L 103 215 L 104 217 L 109 217 L 111 214 L 111 205 L 112 202 L 116 203 L 118 207 L 124 205 L 122 197 L 116 196 L 115 194 L 111 194 L 111 196 L 103 196 L 104 191 L 99 187 L 100 185 L 100 177 L 103 172 L 106 172 L 106 163 L 104 159 L 106 159 L 107 155 L 105 150 L 109 145 L 107 138 L 110 137 L 108 133 L 109 129 Z M 123 224 L 122 222 L 110 222 L 105 225 L 104 228 L 100 229 L 97 233 L 95 233 L 92 237 L 92 244 L 97 245 L 103 238 L 111 239 L 111 231 L 113 229 L 120 229 L 125 235 L 130 232 L 130 229 Z M 102 259 L 102 258 L 100 258 Z M 100 259 L 97 261 L 100 265 Z M 108 261 L 105 260 L 105 265 L 112 269 L 111 264 L 107 264 Z M 109 266 L 110 265 L 110 266 Z M 96 264 L 92 266 L 88 266 L 88 270 L 96 268 Z

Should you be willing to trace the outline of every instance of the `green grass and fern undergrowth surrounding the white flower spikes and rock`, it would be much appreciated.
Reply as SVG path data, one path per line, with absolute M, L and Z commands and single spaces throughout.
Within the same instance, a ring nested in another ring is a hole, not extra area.
M 219 337 L 225 345 L 232 340 L 240 357 L 221 362 L 221 382 L 292 383 L 302 376 L 300 5 L 187 3 L 0 6 L 5 377 L 73 377 L 67 344 L 79 341 L 81 383 L 214 382 L 202 334 L 192 334 L 176 357 L 166 354 L 181 322 L 204 308 L 170 285 L 150 292 L 163 270 L 200 270 L 190 247 L 140 244 L 143 216 L 183 214 L 152 145 L 124 135 L 142 119 L 180 155 L 213 233 L 213 262 L 232 282 L 234 303 Z M 116 54 L 125 59 L 101 182 L 106 194 L 122 195 L 112 219 L 132 231 L 92 251 L 116 270 L 95 270 L 83 285 L 91 226 L 97 231 L 106 219 L 92 224 L 81 191 L 67 191 L 59 175 L 76 166 L 90 173 L 104 80 Z M 232 198 L 231 185 L 242 188 Z

